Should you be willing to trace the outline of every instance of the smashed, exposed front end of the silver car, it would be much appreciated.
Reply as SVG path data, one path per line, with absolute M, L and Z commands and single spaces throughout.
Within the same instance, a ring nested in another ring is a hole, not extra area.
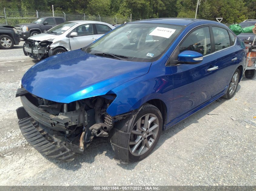
M 28 39 L 23 45 L 23 52 L 25 56 L 30 56 L 33 59 L 42 59 L 48 57 L 48 52 L 50 50 L 50 45 L 52 42 L 36 41 Z

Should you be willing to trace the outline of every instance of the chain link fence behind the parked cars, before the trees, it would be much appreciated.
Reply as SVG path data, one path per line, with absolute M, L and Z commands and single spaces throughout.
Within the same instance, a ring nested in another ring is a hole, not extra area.
M 52 11 L 37 11 L 37 10 L 18 10 L 18 9 L 1 9 L 0 10 L 0 24 L 8 24 L 15 26 L 21 23 L 31 23 L 40 17 L 64 17 L 66 21 L 75 20 L 90 20 L 90 21 L 101 21 L 109 24 L 123 24 L 124 22 L 130 22 L 130 18 L 112 18 L 112 17 L 101 17 L 101 16 L 88 16 L 85 14 L 66 14 L 65 12 L 57 13 Z M 131 21 L 137 21 L 140 19 L 132 19 Z

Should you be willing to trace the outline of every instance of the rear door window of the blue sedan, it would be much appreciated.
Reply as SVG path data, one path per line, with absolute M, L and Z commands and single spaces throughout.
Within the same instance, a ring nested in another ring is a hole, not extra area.
M 212 27 L 215 51 L 228 48 L 230 46 L 230 40 L 228 30 L 221 27 Z

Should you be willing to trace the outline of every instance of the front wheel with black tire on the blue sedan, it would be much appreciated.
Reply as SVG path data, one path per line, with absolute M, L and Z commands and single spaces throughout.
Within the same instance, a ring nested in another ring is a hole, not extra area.
M 126 134 L 128 137 L 124 138 L 124 134 L 118 131 L 113 137 L 115 140 L 121 140 L 120 145 L 122 147 L 126 145 L 127 161 L 135 162 L 146 158 L 155 148 L 162 132 L 163 118 L 161 112 L 157 107 L 146 103 L 141 107 L 132 123 L 130 123 L 131 119 L 122 120 L 125 120 L 122 124 L 128 124 L 129 134 Z M 116 147 L 115 140 L 111 138 L 111 144 L 114 142 L 113 148 Z M 119 155 L 117 159 L 122 160 L 122 158 L 125 157 Z

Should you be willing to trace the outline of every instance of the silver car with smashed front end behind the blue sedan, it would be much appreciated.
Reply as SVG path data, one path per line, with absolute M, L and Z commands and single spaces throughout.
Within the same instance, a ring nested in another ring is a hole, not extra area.
M 42 59 L 79 49 L 114 29 L 111 24 L 98 21 L 68 21 L 45 33 L 29 37 L 23 45 L 24 54 Z

